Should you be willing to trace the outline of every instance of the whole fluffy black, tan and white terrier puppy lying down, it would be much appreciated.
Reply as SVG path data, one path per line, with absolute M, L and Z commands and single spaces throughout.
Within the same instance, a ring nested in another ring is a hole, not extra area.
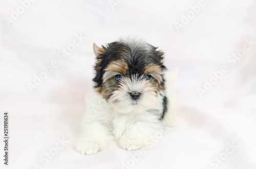
M 102 48 L 94 44 L 94 53 L 94 87 L 86 97 L 76 150 L 94 154 L 113 141 L 129 151 L 148 146 L 149 138 L 172 125 L 163 52 L 142 40 L 120 39 Z

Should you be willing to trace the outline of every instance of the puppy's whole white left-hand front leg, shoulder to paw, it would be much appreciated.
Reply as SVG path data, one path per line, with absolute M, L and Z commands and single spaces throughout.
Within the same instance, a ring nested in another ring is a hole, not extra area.
M 111 119 L 106 101 L 95 90 L 86 96 L 87 111 L 81 120 L 82 133 L 75 141 L 75 148 L 81 154 L 95 154 L 111 145 Z

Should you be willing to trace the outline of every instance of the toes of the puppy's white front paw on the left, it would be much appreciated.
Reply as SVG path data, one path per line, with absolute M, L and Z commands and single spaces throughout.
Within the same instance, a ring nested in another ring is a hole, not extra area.
M 98 143 L 82 143 L 76 142 L 75 143 L 76 151 L 81 154 L 95 154 L 99 151 L 99 144 Z

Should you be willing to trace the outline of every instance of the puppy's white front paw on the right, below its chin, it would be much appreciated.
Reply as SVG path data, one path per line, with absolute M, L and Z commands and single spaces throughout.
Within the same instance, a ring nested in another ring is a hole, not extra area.
M 146 146 L 148 146 L 151 142 L 147 141 L 146 138 L 135 138 L 135 137 L 129 137 L 127 135 L 122 136 L 119 139 L 119 144 L 122 149 L 128 150 L 128 151 L 135 151 L 142 149 Z

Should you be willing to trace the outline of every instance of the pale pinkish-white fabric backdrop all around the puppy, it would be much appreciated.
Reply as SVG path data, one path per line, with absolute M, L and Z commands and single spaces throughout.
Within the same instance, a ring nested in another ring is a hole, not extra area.
M 113 10 L 103 0 L 38 0 L 8 27 L 4 18 L 23 1 L 1 1 L 1 133 L 4 111 L 10 115 L 9 165 L 1 159 L 1 168 L 121 168 L 129 160 L 130 168 L 256 168 L 256 46 L 235 66 L 227 62 L 245 39 L 256 41 L 255 1 L 205 0 L 180 32 L 174 22 L 199 1 L 124 0 Z M 61 61 L 58 52 L 75 34 L 86 39 Z M 178 70 L 168 86 L 180 105 L 177 125 L 137 161 L 131 154 L 138 151 L 124 151 L 115 143 L 95 155 L 80 155 L 72 142 L 92 86 L 93 42 L 103 45 L 127 36 L 159 46 L 169 71 Z M 59 66 L 30 92 L 26 84 L 52 60 Z M 223 65 L 228 73 L 200 98 L 197 88 Z M 39 159 L 62 138 L 69 143 L 56 156 L 46 163 Z M 237 148 L 226 157 L 229 144 Z M 3 154 L 2 141 L 0 146 Z M 222 164 L 211 166 L 216 157 L 224 159 Z

